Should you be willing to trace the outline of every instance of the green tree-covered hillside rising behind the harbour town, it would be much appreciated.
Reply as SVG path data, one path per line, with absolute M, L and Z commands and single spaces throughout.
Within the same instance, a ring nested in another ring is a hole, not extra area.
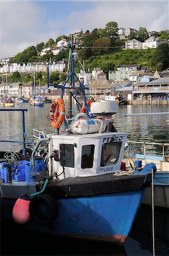
M 157 49 L 124 49 L 125 42 L 130 39 L 137 39 L 144 42 L 149 38 L 149 33 L 146 28 L 140 27 L 137 32 L 132 32 L 128 38 L 120 40 L 117 34 L 119 28 L 116 22 L 108 22 L 105 28 L 95 28 L 91 32 L 87 30 L 85 33 L 81 31 L 77 38 L 78 48 L 76 51 L 79 57 L 84 60 L 85 69 L 92 70 L 95 67 L 102 68 L 105 73 L 109 70 L 117 69 L 124 64 L 140 64 L 146 66 L 151 71 L 164 70 L 168 68 L 168 30 L 156 32 L 152 31 L 155 38 L 166 40 L 166 43 L 161 44 Z M 18 53 L 12 60 L 15 63 L 28 63 L 39 61 L 57 61 L 68 59 L 69 49 L 53 55 L 48 51 L 46 55 L 40 56 L 40 52 L 46 47 L 55 47 L 56 43 L 67 38 L 65 35 L 58 36 L 56 40 L 50 38 L 48 42 L 41 42 L 37 46 L 31 46 L 23 52 Z M 76 66 L 77 71 L 78 65 Z

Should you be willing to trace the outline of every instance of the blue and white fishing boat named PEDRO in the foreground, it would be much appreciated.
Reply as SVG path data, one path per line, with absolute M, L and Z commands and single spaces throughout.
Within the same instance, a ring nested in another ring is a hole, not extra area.
M 126 170 L 122 157 L 128 134 L 112 123 L 117 102 L 86 100 L 87 88 L 74 73 L 76 56 L 71 44 L 71 73 L 63 85 L 49 84 L 48 72 L 48 86 L 61 90 L 49 110 L 53 132 L 37 130 L 28 152 L 23 121 L 22 152 L 1 154 L 1 218 L 57 236 L 124 245 L 156 166 Z M 76 102 L 75 116 L 65 108 L 65 90 Z

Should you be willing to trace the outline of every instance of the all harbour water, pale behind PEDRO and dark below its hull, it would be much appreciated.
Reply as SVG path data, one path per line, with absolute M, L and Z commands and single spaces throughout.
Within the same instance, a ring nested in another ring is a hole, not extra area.
M 32 129 L 48 127 L 48 114 L 51 104 L 43 108 L 19 104 L 15 109 L 28 109 L 25 113 L 27 139 L 32 138 Z M 169 143 L 169 115 L 151 115 L 146 117 L 124 117 L 126 113 L 169 112 L 169 106 L 119 106 L 114 123 L 118 131 L 129 133 L 128 139 Z M 0 138 L 16 140 L 22 138 L 20 112 L 0 112 Z M 54 130 L 51 130 L 53 132 Z M 14 137 L 17 135 L 17 137 Z M 6 143 L 6 147 L 15 150 L 15 143 Z M 0 143 L 1 150 L 6 147 Z M 21 149 L 21 146 L 20 146 Z M 159 147 L 152 148 L 154 152 Z M 155 209 L 155 255 L 169 255 L 169 216 L 163 209 Z M 127 220 L 126 220 L 127 221 Z M 1 255 L 153 255 L 151 236 L 151 208 L 142 205 L 130 236 L 124 246 L 105 243 L 91 243 L 71 238 L 46 236 L 29 232 L 13 222 L 1 223 Z

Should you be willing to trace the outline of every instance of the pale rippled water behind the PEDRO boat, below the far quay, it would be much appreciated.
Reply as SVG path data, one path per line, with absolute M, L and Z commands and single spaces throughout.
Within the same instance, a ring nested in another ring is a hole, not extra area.
M 32 129 L 49 127 L 48 114 L 51 104 L 45 104 L 43 108 L 32 107 L 29 104 L 19 104 L 15 109 L 28 109 L 26 117 L 27 138 L 32 138 Z M 67 109 L 67 106 L 66 106 Z M 119 113 L 114 116 L 117 131 L 127 132 L 128 139 L 133 141 L 169 143 L 169 125 L 166 120 L 169 115 L 150 115 L 143 117 L 124 117 L 126 113 L 151 113 L 151 112 L 169 112 L 169 106 L 119 106 Z M 22 114 L 20 112 L 0 112 L 0 138 L 18 135 L 22 138 Z M 51 130 L 51 129 L 50 129 Z M 54 129 L 53 129 L 54 132 Z M 8 147 L 15 147 L 6 144 Z M 2 148 L 2 143 L 0 143 Z M 161 151 L 160 146 L 151 146 L 153 152 Z

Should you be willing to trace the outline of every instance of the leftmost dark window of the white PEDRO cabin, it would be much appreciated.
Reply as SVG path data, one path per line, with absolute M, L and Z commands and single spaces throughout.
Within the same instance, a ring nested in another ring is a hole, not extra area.
M 74 168 L 74 145 L 60 144 L 60 159 L 65 167 Z

